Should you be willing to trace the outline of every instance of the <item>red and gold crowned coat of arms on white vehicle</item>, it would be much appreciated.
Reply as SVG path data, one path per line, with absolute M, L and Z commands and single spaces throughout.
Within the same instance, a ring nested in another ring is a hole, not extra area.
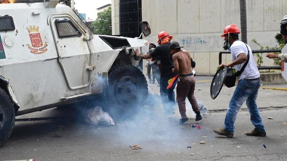
M 28 48 L 31 50 L 31 53 L 33 54 L 43 54 L 44 52 L 46 52 L 47 46 L 48 46 L 48 42 L 45 42 L 45 44 L 43 44 L 42 42 L 42 38 L 39 32 L 39 26 L 29 26 L 30 28 L 27 27 L 27 30 L 29 32 L 29 37 L 31 40 L 31 44 L 32 46 L 30 46 L 29 44 L 27 44 L 26 46 L 28 46 Z

